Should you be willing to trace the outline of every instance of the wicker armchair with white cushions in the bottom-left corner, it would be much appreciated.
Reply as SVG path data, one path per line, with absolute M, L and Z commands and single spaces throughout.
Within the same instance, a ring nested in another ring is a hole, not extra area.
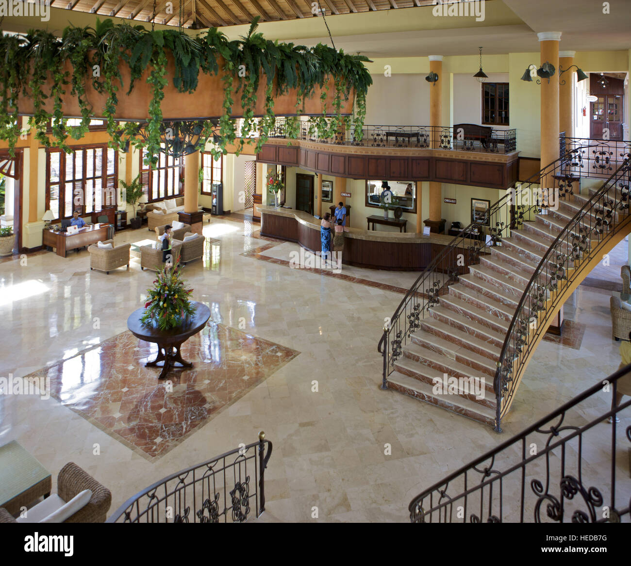
M 59 470 L 56 494 L 33 505 L 18 519 L 0 507 L 0 523 L 105 523 L 110 505 L 110 490 L 69 462 Z

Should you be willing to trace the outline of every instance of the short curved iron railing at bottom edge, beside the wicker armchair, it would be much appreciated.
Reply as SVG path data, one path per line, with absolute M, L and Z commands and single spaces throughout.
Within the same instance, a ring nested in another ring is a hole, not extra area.
M 266 451 L 267 446 L 267 451 Z M 174 473 L 127 499 L 107 523 L 243 523 L 265 511 L 272 443 L 241 445 Z

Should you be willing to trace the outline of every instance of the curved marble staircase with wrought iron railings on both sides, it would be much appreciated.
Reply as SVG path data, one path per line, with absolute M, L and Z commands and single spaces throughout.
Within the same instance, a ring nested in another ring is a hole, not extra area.
M 553 316 L 631 231 L 628 157 L 584 194 L 574 194 L 579 179 L 565 175 L 570 162 L 564 156 L 521 187 L 531 190 L 554 176 L 562 197 L 557 210 L 516 207 L 509 216 L 511 200 L 502 199 L 490 212 L 491 245 L 459 236 L 419 277 L 384 327 L 382 388 L 501 430 Z M 468 269 L 445 269 L 464 250 Z

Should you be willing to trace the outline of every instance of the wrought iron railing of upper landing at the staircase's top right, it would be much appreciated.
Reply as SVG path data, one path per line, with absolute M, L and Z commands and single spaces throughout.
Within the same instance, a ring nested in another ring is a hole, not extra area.
M 631 155 L 631 142 L 625 140 L 598 140 L 586 137 L 559 136 L 559 155 L 571 153 L 573 159 L 567 171 L 579 169 L 595 178 L 607 178 Z

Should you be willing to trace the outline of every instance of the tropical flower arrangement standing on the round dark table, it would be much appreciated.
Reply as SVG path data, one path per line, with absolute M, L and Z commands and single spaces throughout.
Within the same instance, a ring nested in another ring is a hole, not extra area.
M 174 267 L 165 265 L 158 271 L 153 287 L 147 289 L 148 299 L 140 319 L 144 326 L 170 330 L 195 312 L 195 306 L 189 301 L 193 290 L 186 289 L 180 277 L 179 260 L 177 257 Z

